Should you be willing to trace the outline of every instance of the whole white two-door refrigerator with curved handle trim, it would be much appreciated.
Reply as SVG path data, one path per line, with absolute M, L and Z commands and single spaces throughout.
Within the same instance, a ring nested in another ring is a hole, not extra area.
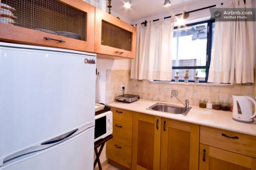
M 0 42 L 0 169 L 91 170 L 96 55 Z

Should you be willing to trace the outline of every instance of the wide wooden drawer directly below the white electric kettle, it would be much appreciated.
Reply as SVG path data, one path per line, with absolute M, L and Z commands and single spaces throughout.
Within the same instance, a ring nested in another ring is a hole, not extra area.
M 200 143 L 256 157 L 256 136 L 201 126 Z

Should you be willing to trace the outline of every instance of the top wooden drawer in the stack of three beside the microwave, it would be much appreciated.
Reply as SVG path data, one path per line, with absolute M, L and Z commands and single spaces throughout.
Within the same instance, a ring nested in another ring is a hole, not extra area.
M 133 112 L 129 110 L 119 109 L 119 108 L 111 108 L 113 112 L 113 119 L 116 119 L 120 122 L 124 123 L 133 123 Z

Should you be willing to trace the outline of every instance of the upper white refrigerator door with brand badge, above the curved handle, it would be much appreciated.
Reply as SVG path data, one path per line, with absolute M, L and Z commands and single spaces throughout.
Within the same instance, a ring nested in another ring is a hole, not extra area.
M 0 42 L 0 160 L 94 122 L 95 55 L 15 46 Z

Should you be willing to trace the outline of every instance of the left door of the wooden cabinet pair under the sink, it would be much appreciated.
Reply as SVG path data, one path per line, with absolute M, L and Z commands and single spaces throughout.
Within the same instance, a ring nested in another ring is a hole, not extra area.
M 132 169 L 160 168 L 161 117 L 134 113 Z

